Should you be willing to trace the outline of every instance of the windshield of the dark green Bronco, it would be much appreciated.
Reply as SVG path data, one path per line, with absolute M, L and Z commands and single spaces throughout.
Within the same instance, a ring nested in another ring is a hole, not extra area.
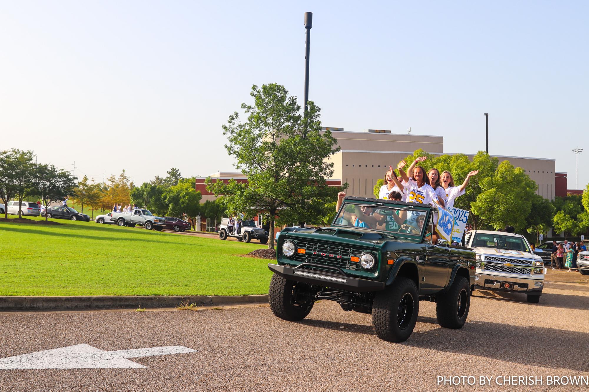
M 403 209 L 410 210 L 403 210 Z M 425 222 L 426 210 L 411 209 L 415 207 L 369 205 L 344 203 L 333 220 L 334 226 L 363 227 L 364 229 L 384 232 L 406 233 L 421 236 Z

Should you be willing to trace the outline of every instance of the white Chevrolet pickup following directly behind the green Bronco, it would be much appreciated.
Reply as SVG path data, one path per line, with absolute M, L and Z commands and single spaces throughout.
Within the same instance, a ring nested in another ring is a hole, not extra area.
M 521 234 L 471 230 L 465 246 L 477 254 L 475 286 L 483 290 L 519 292 L 528 302 L 540 302 L 544 288 L 544 263 L 532 253 L 528 240 Z

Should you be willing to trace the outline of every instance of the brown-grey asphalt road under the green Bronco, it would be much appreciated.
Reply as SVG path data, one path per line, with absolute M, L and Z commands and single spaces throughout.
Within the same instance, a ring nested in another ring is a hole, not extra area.
M 82 343 L 197 350 L 131 359 L 144 368 L 0 370 L 0 391 L 537 391 L 551 388 L 547 376 L 589 377 L 589 284 L 567 282 L 547 283 L 540 304 L 477 292 L 461 330 L 439 327 L 435 304 L 422 301 L 415 331 L 401 344 L 379 340 L 368 314 L 325 300 L 296 323 L 266 305 L 6 312 L 0 326 L 0 358 Z M 443 387 L 437 376 L 475 376 L 477 383 L 480 376 L 542 376 L 544 385 Z

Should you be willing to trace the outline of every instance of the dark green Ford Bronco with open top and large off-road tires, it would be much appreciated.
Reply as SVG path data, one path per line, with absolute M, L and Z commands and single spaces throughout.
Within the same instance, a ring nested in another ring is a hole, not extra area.
M 346 197 L 333 223 L 315 231 L 282 230 L 270 282 L 270 308 L 302 320 L 317 300 L 372 314 L 380 339 L 404 341 L 419 301 L 436 303 L 438 323 L 464 326 L 475 282 L 475 253 L 432 244 L 435 208 L 425 204 Z

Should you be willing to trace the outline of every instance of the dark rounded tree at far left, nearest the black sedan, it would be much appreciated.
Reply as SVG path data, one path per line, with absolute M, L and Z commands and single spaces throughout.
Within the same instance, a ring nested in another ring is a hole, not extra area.
M 41 196 L 42 203 L 49 208 L 51 203 L 65 199 L 74 192 L 75 177 L 70 172 L 58 170 L 53 165 L 38 165 L 38 180 L 35 192 Z M 47 221 L 47 214 L 45 214 Z

